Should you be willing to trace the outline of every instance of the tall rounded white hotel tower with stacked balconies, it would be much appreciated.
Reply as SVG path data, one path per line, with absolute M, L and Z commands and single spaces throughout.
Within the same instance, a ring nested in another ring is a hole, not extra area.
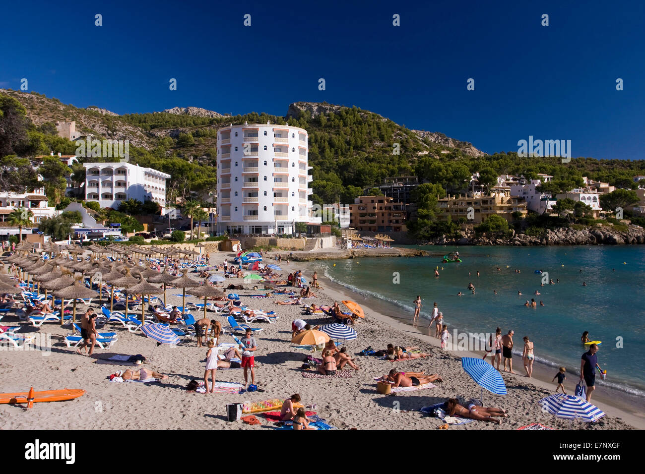
M 217 132 L 218 232 L 295 233 L 312 217 L 308 135 L 302 128 L 244 124 Z

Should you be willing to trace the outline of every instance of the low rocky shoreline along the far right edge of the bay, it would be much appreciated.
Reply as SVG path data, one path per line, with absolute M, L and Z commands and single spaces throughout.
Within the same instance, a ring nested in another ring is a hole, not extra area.
M 624 245 L 644 244 L 645 229 L 639 226 L 628 226 L 622 231 L 612 226 L 590 226 L 582 230 L 574 228 L 547 229 L 539 237 L 524 233 L 514 233 L 510 237 L 491 237 L 477 235 L 472 230 L 461 231 L 457 237 L 442 235 L 438 239 L 426 242 L 429 245 Z

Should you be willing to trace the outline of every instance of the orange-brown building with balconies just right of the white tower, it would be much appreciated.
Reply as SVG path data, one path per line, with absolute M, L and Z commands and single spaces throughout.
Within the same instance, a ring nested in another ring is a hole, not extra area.
M 406 213 L 402 202 L 387 196 L 361 196 L 350 208 L 350 227 L 370 232 L 406 232 Z

